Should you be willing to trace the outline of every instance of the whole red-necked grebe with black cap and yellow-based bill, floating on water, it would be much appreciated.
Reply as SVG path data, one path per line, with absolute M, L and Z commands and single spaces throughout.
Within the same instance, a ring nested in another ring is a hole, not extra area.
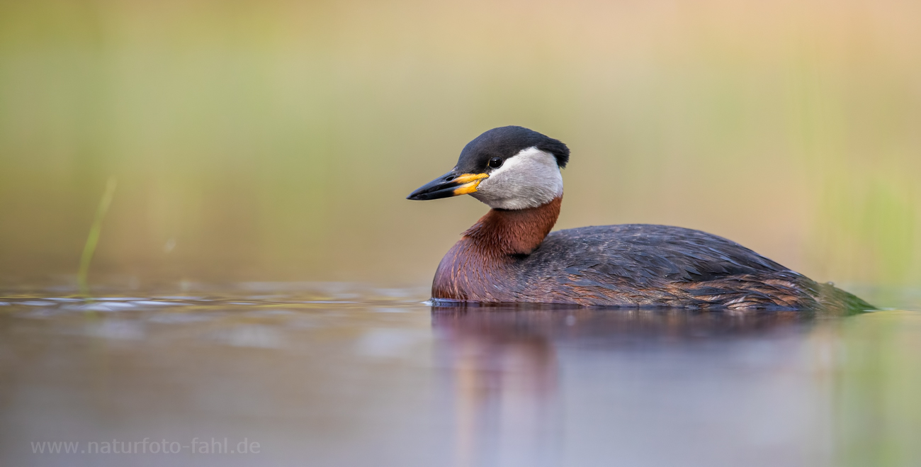
M 492 207 L 438 265 L 432 298 L 729 309 L 871 309 L 738 243 L 698 230 L 621 225 L 550 233 L 569 149 L 519 126 L 481 134 L 409 195 L 471 194 Z M 549 234 L 549 235 L 548 235 Z

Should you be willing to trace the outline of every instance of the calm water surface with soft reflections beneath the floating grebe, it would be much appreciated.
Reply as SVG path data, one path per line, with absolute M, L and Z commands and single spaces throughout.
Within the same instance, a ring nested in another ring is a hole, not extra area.
M 921 463 L 921 313 L 234 290 L 0 298 L 0 464 Z

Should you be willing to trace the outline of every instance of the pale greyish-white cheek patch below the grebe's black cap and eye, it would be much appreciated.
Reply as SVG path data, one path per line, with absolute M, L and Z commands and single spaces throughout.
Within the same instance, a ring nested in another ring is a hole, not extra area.
M 496 209 L 527 209 L 563 194 L 563 175 L 553 154 L 523 149 L 493 170 L 471 195 Z

